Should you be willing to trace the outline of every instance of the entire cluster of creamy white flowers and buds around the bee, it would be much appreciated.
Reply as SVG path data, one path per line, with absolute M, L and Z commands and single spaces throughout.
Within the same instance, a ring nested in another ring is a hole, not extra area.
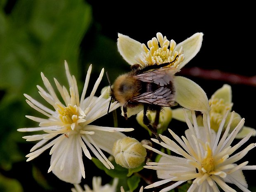
M 190 38 L 176 45 L 174 40 L 167 40 L 161 33 L 156 34 L 147 43 L 142 44 L 132 38 L 119 33 L 117 46 L 122 57 L 128 64 L 162 64 L 171 63 L 171 68 L 180 71 L 199 52 L 202 44 L 202 33 L 195 33 Z M 99 97 L 95 92 L 100 85 L 104 69 L 94 84 L 90 94 L 87 93 L 92 65 L 90 65 L 85 78 L 84 87 L 79 95 L 76 78 L 71 76 L 68 64 L 65 61 L 66 77 L 69 88 L 60 85 L 54 79 L 58 92 L 52 87 L 48 79 L 41 73 L 45 88 L 38 85 L 39 94 L 52 106 L 46 107 L 29 95 L 25 95 L 26 102 L 45 118 L 26 116 L 38 122 L 38 127 L 19 128 L 20 132 L 36 132 L 35 135 L 24 136 L 27 141 L 38 141 L 31 148 L 27 161 L 31 161 L 45 150 L 50 149 L 50 168 L 59 179 L 74 184 L 72 192 L 116 192 L 119 180 L 113 178 L 112 185 L 102 185 L 101 177 L 94 177 L 92 189 L 84 185 L 85 190 L 79 185 L 82 177 L 85 178 L 85 166 L 82 156 L 92 159 L 93 154 L 107 169 L 114 169 L 110 157 L 114 156 L 116 163 L 125 168 L 136 168 L 146 163 L 142 168 L 148 171 L 156 170 L 159 180 L 145 186 L 144 189 L 161 188 L 160 192 L 169 192 L 176 187 L 187 183 L 190 186 L 187 192 L 235 192 L 229 184 L 235 185 L 243 192 L 250 192 L 242 170 L 255 170 L 256 166 L 248 165 L 242 161 L 243 157 L 254 147 L 251 143 L 241 149 L 251 136 L 256 135 L 256 130 L 244 126 L 244 119 L 231 110 L 232 93 L 230 85 L 223 85 L 209 99 L 204 90 L 194 81 L 182 76 L 175 76 L 175 100 L 182 106 L 160 114 L 159 126 L 165 129 L 172 118 L 187 123 L 188 129 L 185 136 L 179 137 L 175 130 L 168 129 L 171 137 L 159 134 L 162 142 L 151 139 L 157 145 L 142 145 L 135 138 L 127 137 L 122 132 L 132 131 L 133 128 L 113 128 L 93 125 L 93 121 L 101 118 L 120 106 L 115 101 L 111 102 L 108 90 L 105 88 Z M 88 97 L 85 95 L 88 94 Z M 61 96 L 61 99 L 57 95 Z M 110 106 L 110 108 L 109 108 Z M 201 111 L 196 116 L 195 111 Z M 128 117 L 137 114 L 137 121 L 143 126 L 142 114 L 128 108 Z M 150 113 L 152 118 L 155 114 Z M 168 122 L 168 123 L 166 123 Z M 165 133 L 165 132 L 164 132 Z M 240 141 L 232 145 L 234 139 Z M 160 146 L 162 148 L 157 148 Z M 146 158 L 146 149 L 161 155 L 159 161 Z M 161 149 L 171 151 L 164 153 Z M 239 152 L 237 152 L 237 150 Z M 109 156 L 106 156 L 106 152 Z M 173 155 L 175 154 L 175 155 Z M 147 161 L 147 162 L 146 162 Z M 239 163 L 237 163 L 239 161 Z M 168 183 L 170 183 L 168 185 Z M 120 187 L 119 187 L 120 189 Z M 121 192 L 125 192 L 121 187 Z M 138 187 L 140 192 L 143 187 Z

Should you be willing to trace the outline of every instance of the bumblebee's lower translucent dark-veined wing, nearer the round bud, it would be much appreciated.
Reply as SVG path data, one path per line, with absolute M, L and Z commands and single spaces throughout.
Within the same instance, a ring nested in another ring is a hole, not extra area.
M 173 91 L 166 87 L 160 87 L 155 91 L 142 93 L 137 97 L 133 97 L 132 101 L 155 104 L 163 107 L 171 107 L 176 105 Z

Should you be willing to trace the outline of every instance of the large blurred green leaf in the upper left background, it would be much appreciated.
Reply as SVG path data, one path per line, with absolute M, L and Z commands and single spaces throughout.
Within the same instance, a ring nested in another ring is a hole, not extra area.
M 83 0 L 17 1 L 0 33 L 0 88 L 16 97 L 34 93 L 40 72 L 51 77 L 64 72 L 64 60 L 78 73 L 79 46 L 91 14 Z

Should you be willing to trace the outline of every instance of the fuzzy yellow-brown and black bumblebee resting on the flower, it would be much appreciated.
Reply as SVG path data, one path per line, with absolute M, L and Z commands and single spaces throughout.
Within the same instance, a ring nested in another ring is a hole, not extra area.
M 126 119 L 128 119 L 128 108 L 143 105 L 143 123 L 156 136 L 159 142 L 161 142 L 161 138 L 156 132 L 156 126 L 159 122 L 162 107 L 177 105 L 175 102 L 173 76 L 178 69 L 169 66 L 177 58 L 178 55 L 172 62 L 144 67 L 140 64 L 134 64 L 129 73 L 120 75 L 110 86 L 111 99 L 120 103 Z M 156 112 L 153 124 L 147 117 L 148 110 Z

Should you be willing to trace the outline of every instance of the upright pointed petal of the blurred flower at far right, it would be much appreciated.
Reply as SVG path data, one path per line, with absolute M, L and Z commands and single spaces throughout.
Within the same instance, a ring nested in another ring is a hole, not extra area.
M 216 90 L 216 92 L 214 92 L 211 97 L 223 99 L 225 103 L 230 104 L 232 102 L 231 86 L 228 84 L 224 84 L 222 88 Z

